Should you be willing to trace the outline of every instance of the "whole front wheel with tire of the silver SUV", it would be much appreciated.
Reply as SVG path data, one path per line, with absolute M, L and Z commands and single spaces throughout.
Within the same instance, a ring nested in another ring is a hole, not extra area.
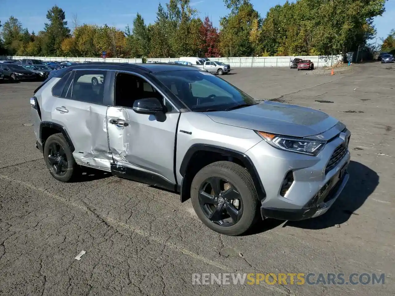
M 229 161 L 199 170 L 191 184 L 192 205 L 210 229 L 237 236 L 257 221 L 258 198 L 248 171 Z

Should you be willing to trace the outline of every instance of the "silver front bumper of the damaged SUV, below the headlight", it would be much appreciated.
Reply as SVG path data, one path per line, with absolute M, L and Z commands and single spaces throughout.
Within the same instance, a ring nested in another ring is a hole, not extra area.
M 346 137 L 350 132 L 345 131 Z M 262 218 L 302 220 L 318 217 L 333 205 L 346 185 L 350 163 L 348 147 L 336 163 L 337 148 L 344 140 L 335 137 L 317 156 L 276 149 L 261 141 L 246 152 L 254 163 L 265 192 L 261 200 Z M 292 185 L 284 194 L 284 178 L 292 172 Z

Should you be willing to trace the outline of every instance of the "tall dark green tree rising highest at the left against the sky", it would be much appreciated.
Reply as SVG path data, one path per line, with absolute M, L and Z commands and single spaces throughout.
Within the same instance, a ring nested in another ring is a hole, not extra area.
M 47 19 L 49 22 L 44 24 L 43 53 L 46 56 L 61 56 L 62 42 L 70 37 L 70 29 L 67 27 L 63 9 L 56 5 L 53 6 L 47 12 Z

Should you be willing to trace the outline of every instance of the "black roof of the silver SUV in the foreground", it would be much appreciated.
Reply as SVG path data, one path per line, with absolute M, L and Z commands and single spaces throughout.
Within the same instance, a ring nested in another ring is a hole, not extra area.
M 182 65 L 182 64 L 168 64 L 168 63 L 152 63 L 152 64 L 128 64 L 128 63 L 109 63 L 109 62 L 96 62 L 96 63 L 81 63 L 70 67 L 65 67 L 56 70 L 54 77 L 62 77 L 65 73 L 73 69 L 103 69 L 103 70 L 120 70 L 120 71 L 135 71 L 145 73 L 158 73 L 166 71 L 186 71 L 195 70 L 201 71 L 198 67 Z

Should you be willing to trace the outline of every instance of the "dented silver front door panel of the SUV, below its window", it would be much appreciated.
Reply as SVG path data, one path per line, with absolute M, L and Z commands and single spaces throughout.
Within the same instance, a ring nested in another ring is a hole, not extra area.
M 109 147 L 115 163 L 150 172 L 175 184 L 174 143 L 179 112 L 156 117 L 124 107 L 109 107 Z

